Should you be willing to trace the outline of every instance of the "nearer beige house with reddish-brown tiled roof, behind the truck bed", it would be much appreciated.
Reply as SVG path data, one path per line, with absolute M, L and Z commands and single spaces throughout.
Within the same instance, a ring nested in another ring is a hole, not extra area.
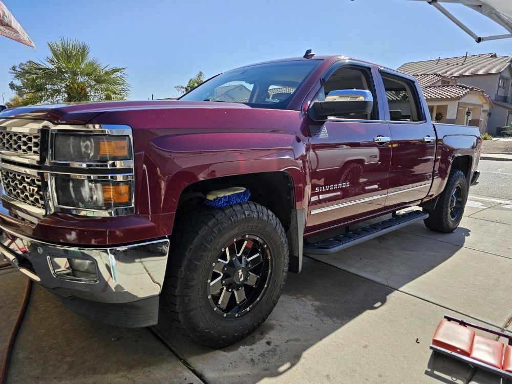
M 480 88 L 460 84 L 455 77 L 438 73 L 415 75 L 429 106 L 432 121 L 478 126 L 486 132 L 494 104 Z

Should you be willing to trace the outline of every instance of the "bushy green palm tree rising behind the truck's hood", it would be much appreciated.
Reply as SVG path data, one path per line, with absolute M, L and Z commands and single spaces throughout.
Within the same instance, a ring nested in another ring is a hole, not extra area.
M 9 88 L 23 105 L 125 100 L 129 95 L 126 68 L 105 66 L 90 57 L 85 42 L 60 37 L 48 42 L 48 48 L 44 61 L 28 60 L 11 68 Z

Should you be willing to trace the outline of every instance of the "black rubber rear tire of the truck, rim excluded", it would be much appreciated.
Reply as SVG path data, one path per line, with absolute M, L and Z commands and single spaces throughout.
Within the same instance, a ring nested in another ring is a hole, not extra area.
M 457 189 L 458 188 L 458 189 Z M 451 202 L 454 191 L 460 191 L 460 209 L 455 217 L 452 217 Z M 423 222 L 425 226 L 433 231 L 442 233 L 451 233 L 458 226 L 464 213 L 468 194 L 468 185 L 464 173 L 461 170 L 455 170 L 450 173 L 446 186 L 442 191 L 434 209 L 425 209 L 423 211 L 429 214 L 429 217 Z

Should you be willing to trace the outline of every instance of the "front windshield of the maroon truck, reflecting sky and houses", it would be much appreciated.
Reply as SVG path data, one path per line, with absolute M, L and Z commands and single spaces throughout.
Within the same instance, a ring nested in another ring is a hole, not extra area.
M 295 91 L 320 60 L 280 61 L 222 73 L 180 100 L 244 103 L 257 108 L 286 109 Z

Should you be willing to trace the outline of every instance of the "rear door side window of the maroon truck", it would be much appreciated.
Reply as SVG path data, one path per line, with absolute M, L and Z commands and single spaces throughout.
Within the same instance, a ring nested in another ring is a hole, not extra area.
M 390 120 L 422 121 L 418 93 L 413 81 L 400 76 L 382 74 Z

